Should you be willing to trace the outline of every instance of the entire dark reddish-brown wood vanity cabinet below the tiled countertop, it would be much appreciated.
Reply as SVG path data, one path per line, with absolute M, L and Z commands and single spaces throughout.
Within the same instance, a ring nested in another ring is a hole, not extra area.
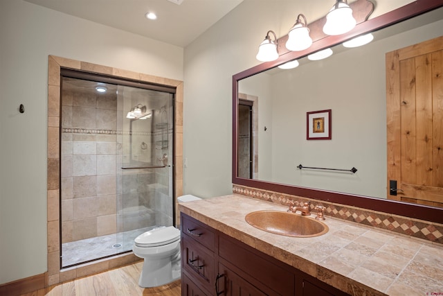
M 347 295 L 183 213 L 181 264 L 181 295 Z

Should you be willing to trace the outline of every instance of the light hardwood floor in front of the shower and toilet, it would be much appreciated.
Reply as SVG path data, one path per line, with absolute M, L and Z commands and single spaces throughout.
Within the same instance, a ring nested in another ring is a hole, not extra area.
M 141 288 L 138 277 L 143 261 L 97 275 L 75 279 L 21 296 L 121 296 L 121 295 L 181 295 L 181 281 L 156 288 Z

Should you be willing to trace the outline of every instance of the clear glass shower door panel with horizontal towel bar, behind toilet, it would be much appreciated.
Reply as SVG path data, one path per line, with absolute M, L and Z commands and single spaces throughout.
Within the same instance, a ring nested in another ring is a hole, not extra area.
M 118 86 L 117 233 L 134 238 L 173 225 L 174 94 Z

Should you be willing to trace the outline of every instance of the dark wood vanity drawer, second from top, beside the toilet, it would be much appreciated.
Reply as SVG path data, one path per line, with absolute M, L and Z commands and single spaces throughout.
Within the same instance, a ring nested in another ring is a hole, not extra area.
M 181 266 L 190 279 L 198 286 L 204 286 L 207 290 L 213 290 L 215 285 L 214 253 L 206 247 L 195 242 L 189 236 L 182 236 Z

